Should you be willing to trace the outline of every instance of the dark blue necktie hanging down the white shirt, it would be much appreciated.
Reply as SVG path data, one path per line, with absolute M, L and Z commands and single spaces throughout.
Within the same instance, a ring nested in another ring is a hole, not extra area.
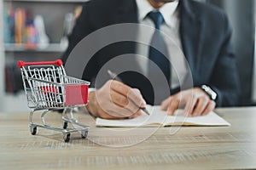
M 154 105 L 160 105 L 161 101 L 169 96 L 171 66 L 168 59 L 168 49 L 164 37 L 160 32 L 160 25 L 164 18 L 160 12 L 150 12 L 148 17 L 154 21 L 155 31 L 151 38 L 148 53 L 148 78 L 151 83 L 157 82 L 154 88 Z M 166 56 L 165 56 L 166 55 Z M 151 60 L 151 61 L 150 61 Z M 157 68 L 156 65 L 159 67 Z M 162 74 L 161 74 L 162 72 Z M 164 76 L 163 76 L 164 75 Z

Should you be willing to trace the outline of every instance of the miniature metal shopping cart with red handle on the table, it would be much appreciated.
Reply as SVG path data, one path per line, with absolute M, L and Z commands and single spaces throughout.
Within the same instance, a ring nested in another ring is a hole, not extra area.
M 70 133 L 73 132 L 80 132 L 82 138 L 86 138 L 89 127 L 80 124 L 74 118 L 73 111 L 74 108 L 87 104 L 90 82 L 67 77 L 61 59 L 43 62 L 18 61 L 18 66 L 27 105 L 32 109 L 29 117 L 32 135 L 37 133 L 37 127 L 44 127 L 63 133 L 65 142 L 70 140 Z M 33 113 L 36 111 L 43 112 L 42 124 L 32 122 Z M 45 122 L 44 116 L 50 111 L 62 111 L 62 127 L 52 127 Z M 73 124 L 73 128 L 67 128 L 68 122 Z

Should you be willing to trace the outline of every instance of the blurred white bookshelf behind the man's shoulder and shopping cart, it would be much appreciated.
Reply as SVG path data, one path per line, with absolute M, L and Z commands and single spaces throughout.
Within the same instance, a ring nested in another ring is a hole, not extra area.
M 75 8 L 88 0 L 3 0 L 0 1 L 0 112 L 28 111 L 26 96 L 23 90 L 18 93 L 9 91 L 5 73 L 9 65 L 16 65 L 18 60 L 39 61 L 55 60 L 61 57 L 66 48 L 61 45 L 65 15 L 74 13 Z M 45 32 L 49 44 L 44 48 L 27 47 L 26 43 L 5 42 L 4 12 L 9 8 L 25 8 L 33 16 L 40 15 L 44 19 Z M 19 70 L 18 70 L 19 71 Z M 14 79 L 14 78 L 13 78 Z M 15 103 L 17 106 L 11 107 Z

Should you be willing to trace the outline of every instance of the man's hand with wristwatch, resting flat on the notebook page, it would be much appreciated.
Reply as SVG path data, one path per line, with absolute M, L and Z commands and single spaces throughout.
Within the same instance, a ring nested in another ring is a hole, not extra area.
M 167 111 L 169 116 L 172 116 L 179 107 L 183 107 L 184 116 L 203 116 L 212 111 L 215 105 L 216 103 L 201 88 L 191 88 L 165 99 L 161 109 Z

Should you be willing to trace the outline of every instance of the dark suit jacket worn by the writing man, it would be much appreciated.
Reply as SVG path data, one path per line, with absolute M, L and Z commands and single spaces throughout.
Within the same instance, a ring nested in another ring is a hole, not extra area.
M 189 62 L 194 87 L 209 85 L 218 94 L 218 106 L 236 105 L 239 81 L 226 15 L 218 8 L 192 0 L 180 0 L 179 13 L 183 53 Z M 83 12 L 68 37 L 69 47 L 62 60 L 65 63 L 77 43 L 91 32 L 113 24 L 137 22 L 135 0 L 92 0 L 84 3 Z M 89 47 L 84 47 L 84 50 L 86 48 Z M 96 74 L 108 60 L 135 52 L 135 42 L 115 42 L 102 48 L 86 65 L 83 79 L 94 82 Z M 147 78 L 136 72 L 124 72 L 120 77 L 131 87 L 139 88 L 147 102 L 153 103 L 154 94 Z M 172 89 L 172 94 L 177 91 Z

